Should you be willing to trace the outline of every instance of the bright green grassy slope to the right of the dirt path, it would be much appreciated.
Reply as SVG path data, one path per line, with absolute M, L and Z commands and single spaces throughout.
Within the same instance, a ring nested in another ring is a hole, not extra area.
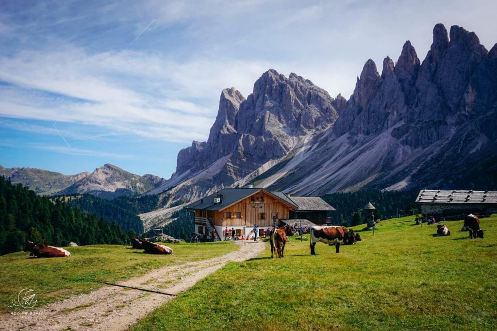
M 449 237 L 413 224 L 384 221 L 339 254 L 292 240 L 284 259 L 229 263 L 133 330 L 496 330 L 497 218 L 483 240 L 462 221 Z

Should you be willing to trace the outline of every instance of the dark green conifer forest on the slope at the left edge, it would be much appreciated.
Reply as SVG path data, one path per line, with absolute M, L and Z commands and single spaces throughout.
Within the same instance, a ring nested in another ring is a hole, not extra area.
M 68 246 L 123 245 L 128 234 L 120 226 L 73 208 L 61 199 L 38 196 L 0 176 L 0 254 L 36 244 Z

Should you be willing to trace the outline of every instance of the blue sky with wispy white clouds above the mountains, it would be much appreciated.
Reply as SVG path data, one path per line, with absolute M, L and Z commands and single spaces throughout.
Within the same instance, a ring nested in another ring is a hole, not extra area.
M 424 59 L 436 23 L 497 42 L 488 1 L 0 0 L 0 165 L 169 178 L 221 90 L 269 68 L 349 97 L 362 66 Z

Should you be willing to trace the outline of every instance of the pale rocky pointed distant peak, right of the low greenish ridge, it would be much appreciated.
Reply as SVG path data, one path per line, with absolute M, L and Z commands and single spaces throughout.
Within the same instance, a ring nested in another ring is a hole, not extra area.
M 140 176 L 115 165 L 105 164 L 58 194 L 88 193 L 104 199 L 145 193 L 164 184 L 166 180 L 146 174 Z

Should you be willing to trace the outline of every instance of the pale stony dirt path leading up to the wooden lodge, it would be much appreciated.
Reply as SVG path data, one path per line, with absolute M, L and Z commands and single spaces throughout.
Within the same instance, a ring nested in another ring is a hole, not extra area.
M 264 250 L 262 242 L 236 242 L 240 249 L 220 257 L 168 266 L 120 285 L 178 294 L 230 261 L 245 261 Z M 106 285 L 88 294 L 37 309 L 32 317 L 3 315 L 0 330 L 126 330 L 174 296 Z

